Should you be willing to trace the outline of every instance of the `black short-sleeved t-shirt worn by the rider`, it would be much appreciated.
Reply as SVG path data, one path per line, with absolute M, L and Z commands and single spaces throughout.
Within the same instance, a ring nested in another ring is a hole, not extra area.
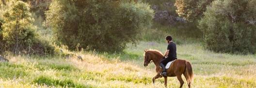
M 176 44 L 174 42 L 168 44 L 167 50 L 169 50 L 168 58 L 177 59 Z

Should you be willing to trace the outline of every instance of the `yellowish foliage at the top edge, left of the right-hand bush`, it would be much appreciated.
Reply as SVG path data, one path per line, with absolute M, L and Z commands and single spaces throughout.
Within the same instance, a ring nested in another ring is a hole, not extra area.
M 176 0 L 176 13 L 188 21 L 199 19 L 213 0 Z

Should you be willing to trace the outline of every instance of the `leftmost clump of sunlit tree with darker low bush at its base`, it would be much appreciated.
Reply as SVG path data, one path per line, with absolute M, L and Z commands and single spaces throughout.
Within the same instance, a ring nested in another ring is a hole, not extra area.
M 11 51 L 24 54 L 53 53 L 53 47 L 39 40 L 32 25 L 33 18 L 29 5 L 15 1 L 3 14 L 3 25 L 0 30 L 0 52 Z

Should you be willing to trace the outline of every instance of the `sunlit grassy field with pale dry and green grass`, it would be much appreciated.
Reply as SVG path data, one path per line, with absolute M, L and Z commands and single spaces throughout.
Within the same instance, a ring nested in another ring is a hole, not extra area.
M 155 66 L 143 66 L 143 53 L 149 48 L 164 52 L 167 45 L 140 42 L 128 46 L 123 54 L 73 52 L 83 61 L 10 54 L 6 56 L 10 62 L 0 63 L 0 88 L 163 88 L 163 78 L 152 84 Z M 177 54 L 192 62 L 193 88 L 256 88 L 256 55 L 214 53 L 197 43 L 177 45 Z M 178 87 L 177 78 L 169 77 L 168 88 Z

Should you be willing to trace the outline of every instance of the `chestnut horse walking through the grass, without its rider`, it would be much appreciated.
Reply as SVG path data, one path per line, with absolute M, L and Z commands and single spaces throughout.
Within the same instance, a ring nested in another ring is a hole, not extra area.
M 155 79 L 162 77 L 160 73 L 162 72 L 162 69 L 159 66 L 159 63 L 163 59 L 163 54 L 158 50 L 145 50 L 144 53 L 144 66 L 146 67 L 149 63 L 151 63 L 151 60 L 156 65 L 156 72 L 157 75 L 152 78 L 153 84 L 155 83 Z M 167 71 L 167 76 L 169 77 L 175 77 L 177 76 L 177 79 L 180 83 L 180 88 L 182 88 L 184 81 L 181 78 L 181 75 L 183 74 L 187 80 L 188 86 L 190 88 L 191 83 L 193 81 L 193 72 L 192 72 L 192 66 L 189 61 L 183 60 L 183 59 L 177 59 L 175 60 L 169 69 Z M 164 86 L 167 87 L 167 76 L 164 77 Z

